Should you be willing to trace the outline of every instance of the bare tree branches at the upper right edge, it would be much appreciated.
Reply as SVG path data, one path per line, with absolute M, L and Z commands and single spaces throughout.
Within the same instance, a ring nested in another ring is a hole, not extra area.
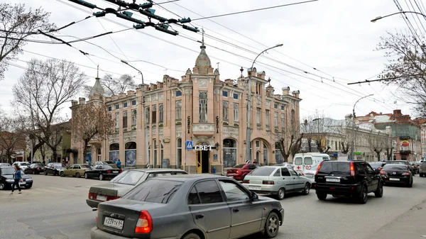
M 388 58 L 381 77 L 398 87 L 403 101 L 412 104 L 419 116 L 426 116 L 426 45 L 409 33 L 388 33 L 378 50 Z

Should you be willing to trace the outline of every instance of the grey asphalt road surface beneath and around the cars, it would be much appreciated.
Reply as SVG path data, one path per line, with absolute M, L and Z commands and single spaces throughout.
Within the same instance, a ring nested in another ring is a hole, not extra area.
M 85 199 L 89 187 L 102 182 L 44 175 L 33 178 L 33 188 L 23 194 L 0 191 L 0 238 L 90 238 L 96 212 Z M 418 176 L 413 188 L 385 187 L 382 199 L 372 194 L 365 205 L 332 196 L 318 201 L 314 190 L 307 196 L 289 195 L 282 201 L 285 221 L 277 238 L 421 238 L 426 235 L 422 229 L 426 228 L 422 219 L 425 202 L 426 178 Z M 259 237 L 245 239 L 254 238 Z

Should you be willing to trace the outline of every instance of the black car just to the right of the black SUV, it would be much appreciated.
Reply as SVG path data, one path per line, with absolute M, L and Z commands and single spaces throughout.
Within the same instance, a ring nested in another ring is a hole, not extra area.
M 385 184 L 405 184 L 413 187 L 413 173 L 407 165 L 387 164 L 380 172 Z

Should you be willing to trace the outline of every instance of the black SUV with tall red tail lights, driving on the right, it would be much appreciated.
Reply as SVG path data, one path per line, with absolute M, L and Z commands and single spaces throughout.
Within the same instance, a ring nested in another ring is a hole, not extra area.
M 383 196 L 383 179 L 378 173 L 365 161 L 323 161 L 315 174 L 317 197 L 351 196 L 366 204 L 368 193 Z

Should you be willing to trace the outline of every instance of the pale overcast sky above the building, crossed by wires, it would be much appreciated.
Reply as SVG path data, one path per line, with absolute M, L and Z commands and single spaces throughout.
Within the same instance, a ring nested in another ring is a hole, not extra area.
M 104 0 L 87 1 L 101 8 L 115 6 Z M 182 17 L 196 19 L 200 18 L 200 15 L 214 16 L 297 1 L 299 0 L 180 0 L 160 5 L 168 11 L 160 6 L 154 6 L 153 9 L 155 14 L 165 18 L 178 18 L 173 14 L 176 13 Z M 79 21 L 93 12 L 92 9 L 67 0 L 13 0 L 13 2 L 25 3 L 26 6 L 34 8 L 42 6 L 45 11 L 52 13 L 50 21 L 57 26 Z M 144 1 L 136 2 L 139 4 Z M 408 9 L 404 10 L 408 11 Z M 217 68 L 216 63 L 219 62 L 222 80 L 236 79 L 240 75 L 241 67 L 245 69 L 251 67 L 256 54 L 250 51 L 261 52 L 282 43 L 283 47 L 270 50 L 265 55 L 273 60 L 259 57 L 257 60 L 259 64 L 255 66 L 258 71 L 265 71 L 267 77 L 271 77 L 275 94 L 281 94 L 281 88 L 287 86 L 291 91 L 300 90 L 300 97 L 303 99 L 300 102 L 301 120 L 308 114 L 315 113 L 316 110 L 326 116 L 344 118 L 347 113 L 351 113 L 355 101 L 366 94 L 374 94 L 374 96 L 363 99 L 356 105 L 357 116 L 371 111 L 391 113 L 393 109 L 402 109 L 403 113 L 414 115 L 409 105 L 395 99 L 393 96 L 395 87 L 386 87 L 380 82 L 347 85 L 349 82 L 363 81 L 371 77 L 371 79 L 377 79 L 375 76 L 384 69 L 384 64 L 387 62 L 383 57 L 384 52 L 376 51 L 380 37 L 386 35 L 386 31 L 394 33 L 396 30 L 404 30 L 407 27 L 403 18 L 398 15 L 383 18 L 376 23 L 371 23 L 370 20 L 396 11 L 398 9 L 391 0 L 320 0 L 210 20 L 198 20 L 193 21 L 192 24 L 200 28 L 204 27 L 208 35 L 205 36 L 207 55 L 212 60 L 212 67 Z M 133 17 L 147 21 L 146 17 L 138 13 Z M 116 23 L 111 23 L 107 19 Z M 89 18 L 61 30 L 59 35 L 64 40 L 75 40 L 67 35 L 85 38 L 132 26 L 133 23 L 129 21 L 107 15 L 103 18 Z M 188 68 L 192 70 L 194 67 L 195 59 L 200 52 L 200 43 L 197 43 L 197 40 L 201 40 L 202 35 L 178 26 L 173 28 L 178 30 L 180 35 L 173 36 L 153 28 L 145 28 L 126 30 L 89 40 L 109 51 L 111 55 L 85 42 L 72 45 L 88 52 L 89 57 L 66 45 L 28 43 L 24 47 L 23 55 L 19 55 L 19 60 L 14 63 L 26 67 L 26 61 L 32 57 L 40 59 L 56 57 L 70 60 L 79 64 L 81 69 L 91 77 L 90 84 L 94 84 L 98 64 L 101 75 L 108 72 L 114 76 L 126 73 L 135 76 L 138 72 L 121 63 L 119 59 L 143 60 L 168 68 L 168 75 L 180 79 Z M 49 40 L 45 37 L 36 39 Z M 163 74 L 166 74 L 165 68 L 146 62 L 131 62 L 131 64 L 143 72 L 146 83 L 162 81 Z M 7 70 L 5 80 L 0 83 L 1 108 L 9 110 L 13 106 L 11 87 L 23 71 L 14 66 L 10 66 Z M 138 83 L 141 77 L 136 76 L 135 79 Z M 70 116 L 68 106 L 64 113 Z

